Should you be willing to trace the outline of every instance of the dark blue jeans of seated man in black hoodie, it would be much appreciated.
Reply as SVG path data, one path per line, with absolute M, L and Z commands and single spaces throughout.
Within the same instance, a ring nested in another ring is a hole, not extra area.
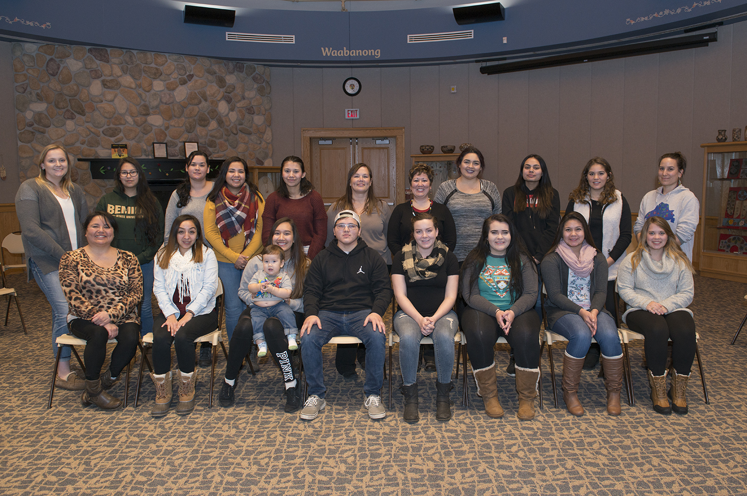
M 386 335 L 373 329 L 369 322 L 365 327 L 363 321 L 371 310 L 350 312 L 319 311 L 322 328 L 311 326 L 309 334 L 301 338 L 301 357 L 303 370 L 306 371 L 306 382 L 309 382 L 309 394 L 323 398 L 324 374 L 322 371 L 322 347 L 335 336 L 354 336 L 366 345 L 366 382 L 363 392 L 368 396 L 381 394 L 384 385 L 384 348 Z

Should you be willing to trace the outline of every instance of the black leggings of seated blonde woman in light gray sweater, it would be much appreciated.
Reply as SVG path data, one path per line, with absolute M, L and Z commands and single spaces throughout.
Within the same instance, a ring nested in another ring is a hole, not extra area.
M 664 375 L 666 370 L 667 343 L 672 338 L 672 366 L 677 373 L 687 375 L 695 358 L 695 321 L 684 310 L 657 315 L 650 311 L 631 311 L 625 316 L 630 330 L 645 336 L 643 349 L 648 370 L 654 376 Z

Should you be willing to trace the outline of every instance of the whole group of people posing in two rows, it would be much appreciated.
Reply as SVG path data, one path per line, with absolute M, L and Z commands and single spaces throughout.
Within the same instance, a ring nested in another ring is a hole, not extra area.
M 512 348 L 507 372 L 515 376 L 516 415 L 533 419 L 543 309 L 548 327 L 568 339 L 562 377 L 568 412 L 584 414 L 577 391 L 587 355 L 595 356 L 589 351 L 594 338 L 607 412 L 620 415 L 617 289 L 627 303 L 622 320 L 645 335 L 654 410 L 686 413 L 695 354 L 695 323 L 686 307 L 693 294 L 699 207 L 681 185 L 684 156 L 660 158 L 660 187 L 644 196 L 632 229 L 627 200 L 604 158 L 592 158 L 583 168 L 562 218 L 560 194 L 539 155 L 521 161 L 515 185 L 503 196 L 482 178 L 479 149 L 465 148 L 456 162 L 459 177 L 443 182 L 433 199 L 433 170 L 415 164 L 409 172 L 412 199 L 393 209 L 375 196 L 371 168 L 355 164 L 345 195 L 325 210 L 296 156 L 282 161 L 282 182 L 265 199 L 243 159 L 226 159 L 210 181 L 207 155 L 193 152 L 164 215 L 143 168 L 123 158 L 114 191 L 89 213 L 81 187 L 70 179 L 66 150 L 47 146 L 40 175 L 19 187 L 16 212 L 29 277 L 52 306 L 55 350 L 56 338 L 68 331 L 87 341 L 84 376 L 70 367 L 69 348 L 59 350 L 58 387 L 82 390 L 84 406 L 118 408 L 121 401 L 107 390 L 133 358 L 138 339 L 152 332 L 151 413 L 167 415 L 173 403 L 173 345 L 176 413 L 189 414 L 197 378 L 193 341 L 220 325 L 215 306 L 223 294 L 229 356 L 221 406 L 235 402 L 239 370 L 255 347 L 258 356 L 269 353 L 279 365 L 285 412 L 300 409 L 301 418 L 316 418 L 326 404 L 321 348 L 335 336 L 350 335 L 362 344 L 338 345 L 335 364 L 346 377 L 357 376 L 356 360 L 365 367 L 365 409 L 371 418 L 383 418 L 382 315 L 394 295 L 405 421 L 420 418 L 419 352 L 426 336 L 433 340 L 424 356 L 426 368 L 436 371 L 436 418 L 451 418 L 459 329 L 486 414 L 504 413 L 494 346 L 505 338 Z M 638 247 L 626 256 L 633 232 Z M 161 310 L 155 319 L 152 294 Z M 112 338 L 117 345 L 102 372 Z M 298 348 L 309 388 L 303 401 L 293 359 Z M 200 362 L 209 363 L 209 353 L 200 350 Z

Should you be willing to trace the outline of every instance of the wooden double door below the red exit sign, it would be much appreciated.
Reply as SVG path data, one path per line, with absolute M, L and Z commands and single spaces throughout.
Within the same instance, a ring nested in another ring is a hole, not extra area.
M 379 199 L 393 204 L 400 201 L 397 176 L 404 167 L 404 128 L 314 128 L 302 132 L 306 171 L 325 203 L 345 194 L 348 171 L 359 163 L 371 168 L 373 192 Z M 400 195 L 404 198 L 403 191 Z

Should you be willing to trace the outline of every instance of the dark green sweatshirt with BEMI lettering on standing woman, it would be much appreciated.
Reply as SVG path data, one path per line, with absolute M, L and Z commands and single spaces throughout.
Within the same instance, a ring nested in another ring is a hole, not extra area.
M 164 239 L 164 209 L 156 202 L 156 215 L 158 216 L 158 232 L 155 235 L 154 244 L 148 244 L 145 232 L 135 232 L 135 204 L 137 195 L 127 196 L 125 193 L 114 190 L 106 193 L 96 204 L 96 210 L 109 212 L 117 219 L 117 235 L 114 236 L 112 246 L 125 249 L 137 255 L 140 265 L 147 264 L 155 257 L 161 242 Z

